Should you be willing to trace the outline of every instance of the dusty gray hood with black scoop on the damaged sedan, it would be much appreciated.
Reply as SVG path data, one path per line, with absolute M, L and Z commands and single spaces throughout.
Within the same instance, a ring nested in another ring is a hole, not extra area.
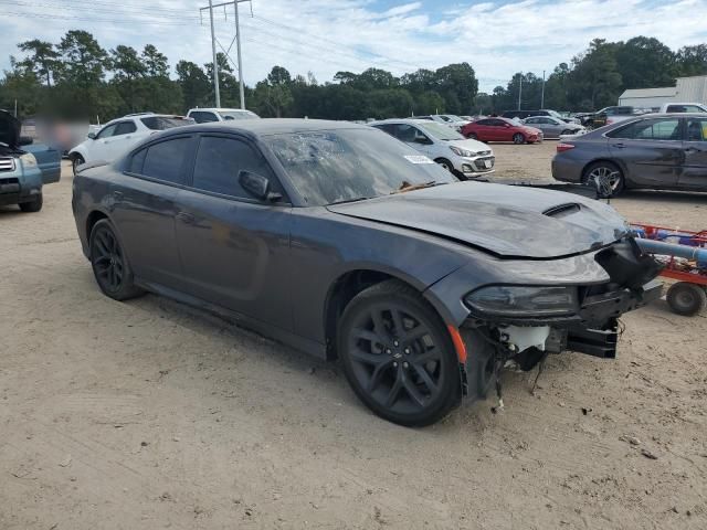
M 581 254 L 627 232 L 623 218 L 600 201 L 484 182 L 456 182 L 327 208 L 440 235 L 506 258 Z

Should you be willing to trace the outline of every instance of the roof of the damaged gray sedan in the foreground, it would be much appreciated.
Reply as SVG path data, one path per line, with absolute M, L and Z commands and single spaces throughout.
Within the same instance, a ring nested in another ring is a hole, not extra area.
M 351 121 L 334 121 L 328 119 L 302 118 L 264 118 L 229 121 L 210 121 L 205 124 L 175 127 L 160 134 L 165 138 L 171 135 L 190 132 L 241 132 L 251 137 L 283 135 L 288 132 L 308 132 L 316 130 L 361 129 L 371 130 L 368 125 Z

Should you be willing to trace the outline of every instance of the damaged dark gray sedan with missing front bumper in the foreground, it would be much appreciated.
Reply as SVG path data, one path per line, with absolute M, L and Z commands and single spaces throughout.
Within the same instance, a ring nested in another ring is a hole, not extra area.
M 74 180 L 101 289 L 150 290 L 341 361 L 403 425 L 484 396 L 508 360 L 613 357 L 616 319 L 659 295 L 616 212 L 460 182 L 371 127 L 263 119 L 180 127 Z

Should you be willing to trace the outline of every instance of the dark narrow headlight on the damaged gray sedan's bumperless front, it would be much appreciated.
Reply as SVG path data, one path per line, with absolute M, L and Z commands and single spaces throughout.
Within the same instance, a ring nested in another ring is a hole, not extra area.
M 577 287 L 493 285 L 464 297 L 469 308 L 486 315 L 552 317 L 576 312 Z

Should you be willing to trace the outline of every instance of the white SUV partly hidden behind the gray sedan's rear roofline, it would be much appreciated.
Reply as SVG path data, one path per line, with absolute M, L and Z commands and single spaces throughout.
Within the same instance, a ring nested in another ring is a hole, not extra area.
M 83 142 L 68 151 L 74 174 L 82 163 L 96 160 L 112 162 L 143 138 L 193 123 L 183 116 L 154 113 L 128 114 L 108 121 L 98 132 L 88 132 Z

